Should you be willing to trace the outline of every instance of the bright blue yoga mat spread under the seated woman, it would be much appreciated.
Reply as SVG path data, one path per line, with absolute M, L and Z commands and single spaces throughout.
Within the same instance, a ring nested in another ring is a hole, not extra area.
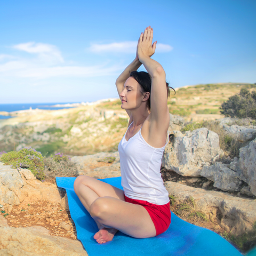
M 241 256 L 235 247 L 211 230 L 197 227 L 181 220 L 172 213 L 172 222 L 165 233 L 152 238 L 133 238 L 120 231 L 113 241 L 98 244 L 93 236 L 98 227 L 74 192 L 75 178 L 57 177 L 58 187 L 65 188 L 71 218 L 74 220 L 77 238 L 83 243 L 89 256 Z M 102 179 L 110 185 L 122 188 L 121 177 Z

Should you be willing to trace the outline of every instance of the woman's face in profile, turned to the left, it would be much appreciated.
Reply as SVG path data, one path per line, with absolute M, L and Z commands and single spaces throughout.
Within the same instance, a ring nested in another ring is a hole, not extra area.
M 122 100 L 121 108 L 138 108 L 144 98 L 143 94 L 140 84 L 133 77 L 129 77 L 124 84 L 124 90 L 120 93 Z

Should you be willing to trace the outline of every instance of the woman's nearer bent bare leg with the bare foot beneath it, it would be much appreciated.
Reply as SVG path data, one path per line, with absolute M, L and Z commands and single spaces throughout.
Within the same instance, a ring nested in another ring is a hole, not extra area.
M 94 239 L 98 243 L 111 241 L 113 234 L 109 228 L 120 230 L 136 238 L 154 237 L 156 229 L 148 211 L 141 205 L 124 202 L 114 197 L 99 197 L 90 207 L 92 218 L 102 227 Z M 109 239 L 111 238 L 111 239 Z

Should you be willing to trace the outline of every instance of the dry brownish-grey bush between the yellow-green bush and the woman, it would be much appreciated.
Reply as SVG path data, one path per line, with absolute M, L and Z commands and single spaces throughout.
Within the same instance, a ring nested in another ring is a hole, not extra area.
M 61 153 L 44 158 L 45 174 L 47 178 L 55 177 L 77 177 L 78 170 L 76 163 Z

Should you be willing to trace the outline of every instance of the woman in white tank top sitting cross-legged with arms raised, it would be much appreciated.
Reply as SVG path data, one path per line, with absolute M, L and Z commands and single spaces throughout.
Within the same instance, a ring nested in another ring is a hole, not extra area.
M 75 193 L 99 227 L 94 235 L 98 243 L 111 241 L 118 230 L 136 238 L 154 237 L 171 222 L 160 173 L 169 127 L 169 87 L 166 90 L 163 67 L 150 59 L 156 49 L 152 39 L 149 26 L 140 35 L 136 58 L 116 80 L 121 107 L 130 117 L 118 146 L 124 191 L 84 175 L 74 183 Z M 148 73 L 135 71 L 142 64 Z

